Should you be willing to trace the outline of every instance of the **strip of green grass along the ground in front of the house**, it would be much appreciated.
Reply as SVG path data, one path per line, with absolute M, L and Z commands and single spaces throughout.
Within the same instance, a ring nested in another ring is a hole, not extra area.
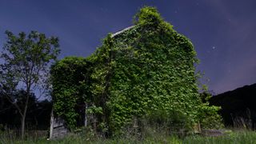
M 140 140 L 139 138 L 129 137 L 129 138 L 112 138 L 112 139 L 103 139 L 103 138 L 88 138 L 79 134 L 70 134 L 66 138 L 62 138 L 59 140 L 48 141 L 46 137 L 41 138 L 26 138 L 26 140 L 22 141 L 17 138 L 9 138 L 4 137 L 3 134 L 0 134 L 0 143 L 65 143 L 65 144 L 73 144 L 73 143 L 92 143 L 92 144 L 129 144 L 129 143 L 187 143 L 187 144 L 236 144 L 236 143 L 245 143 L 245 144 L 253 144 L 256 143 L 256 132 L 248 131 L 248 130 L 239 130 L 231 132 L 230 134 L 226 134 L 224 136 L 219 137 L 204 137 L 200 135 L 190 135 L 185 138 L 178 138 L 177 136 L 165 136 L 164 134 L 155 134 L 154 136 L 143 138 Z

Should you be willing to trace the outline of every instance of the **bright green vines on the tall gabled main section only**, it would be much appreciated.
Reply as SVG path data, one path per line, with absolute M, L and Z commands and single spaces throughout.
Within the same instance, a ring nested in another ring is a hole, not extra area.
M 142 8 L 136 18 L 133 28 L 108 36 L 93 56 L 93 77 L 101 82 L 93 83 L 94 95 L 107 99 L 110 130 L 118 133 L 132 118 L 160 111 L 184 115 L 190 128 L 200 107 L 193 45 L 154 8 Z

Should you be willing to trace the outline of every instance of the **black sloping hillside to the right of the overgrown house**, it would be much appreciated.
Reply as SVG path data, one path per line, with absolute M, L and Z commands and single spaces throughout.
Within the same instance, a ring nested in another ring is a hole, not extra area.
M 256 83 L 210 98 L 210 104 L 222 106 L 220 114 L 226 126 L 255 129 Z

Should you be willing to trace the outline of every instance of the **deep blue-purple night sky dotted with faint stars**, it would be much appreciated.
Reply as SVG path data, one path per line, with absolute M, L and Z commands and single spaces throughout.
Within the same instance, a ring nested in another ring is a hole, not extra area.
M 58 36 L 61 54 L 86 57 L 102 38 L 131 26 L 142 6 L 193 42 L 210 90 L 216 94 L 256 82 L 255 0 L 0 0 L 0 46 L 5 30 Z M 204 80 L 206 81 L 206 80 Z

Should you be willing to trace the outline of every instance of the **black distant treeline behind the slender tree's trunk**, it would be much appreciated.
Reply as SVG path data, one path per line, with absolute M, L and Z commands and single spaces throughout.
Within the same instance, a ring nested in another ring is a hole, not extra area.
M 23 90 L 15 93 L 17 104 L 24 106 L 26 92 Z M 0 129 L 19 129 L 20 115 L 16 107 L 1 93 L 0 97 Z M 47 130 L 50 126 L 50 111 L 52 102 L 38 101 L 34 94 L 30 94 L 30 106 L 27 111 L 26 127 L 28 129 Z

